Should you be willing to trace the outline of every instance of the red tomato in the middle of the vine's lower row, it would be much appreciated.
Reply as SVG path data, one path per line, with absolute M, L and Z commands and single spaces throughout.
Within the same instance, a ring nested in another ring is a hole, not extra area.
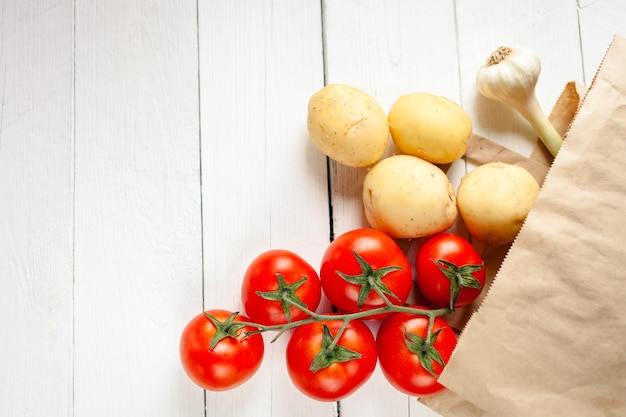
M 339 401 L 347 397 L 369 379 L 376 367 L 376 341 L 369 327 L 359 320 L 348 324 L 333 350 L 335 359 L 343 361 L 324 363 L 329 357 L 320 352 L 342 324 L 342 320 L 331 320 L 300 326 L 287 344 L 289 376 L 301 392 L 315 400 Z M 321 363 L 316 357 L 322 359 Z M 328 366 L 321 367 L 324 365 Z M 316 366 L 321 368 L 311 369 Z

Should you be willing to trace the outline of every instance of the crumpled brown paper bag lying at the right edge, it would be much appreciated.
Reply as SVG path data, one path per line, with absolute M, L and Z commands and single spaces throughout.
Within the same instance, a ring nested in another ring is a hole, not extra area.
M 626 39 L 615 37 L 489 293 L 423 399 L 446 417 L 626 416 Z

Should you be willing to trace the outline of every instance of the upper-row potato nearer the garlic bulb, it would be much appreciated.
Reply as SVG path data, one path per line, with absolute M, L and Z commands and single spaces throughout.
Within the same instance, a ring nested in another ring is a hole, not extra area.
M 456 103 L 429 93 L 401 96 L 389 109 L 391 138 L 398 149 L 433 164 L 465 154 L 472 121 Z

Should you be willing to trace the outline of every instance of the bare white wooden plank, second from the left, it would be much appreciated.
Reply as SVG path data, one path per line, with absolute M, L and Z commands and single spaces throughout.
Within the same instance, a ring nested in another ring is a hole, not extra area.
M 203 413 L 195 2 L 76 3 L 75 414 Z

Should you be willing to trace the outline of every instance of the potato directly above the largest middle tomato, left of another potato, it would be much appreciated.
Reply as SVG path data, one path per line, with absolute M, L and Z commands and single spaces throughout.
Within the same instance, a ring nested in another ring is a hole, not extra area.
M 374 165 L 363 181 L 365 217 L 393 238 L 417 238 L 448 229 L 457 216 L 454 187 L 436 165 L 395 155 Z

